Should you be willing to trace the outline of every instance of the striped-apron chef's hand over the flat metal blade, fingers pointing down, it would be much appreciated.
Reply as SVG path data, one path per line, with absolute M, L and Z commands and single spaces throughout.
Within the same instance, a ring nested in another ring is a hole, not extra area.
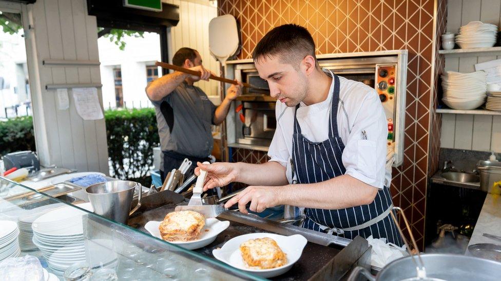
M 249 210 L 253 212 L 262 212 L 266 208 L 278 205 L 280 188 L 278 186 L 249 186 L 237 194 L 234 198 L 224 204 L 229 208 L 238 203 L 238 209 L 242 213 L 248 213 L 245 205 L 251 202 Z

